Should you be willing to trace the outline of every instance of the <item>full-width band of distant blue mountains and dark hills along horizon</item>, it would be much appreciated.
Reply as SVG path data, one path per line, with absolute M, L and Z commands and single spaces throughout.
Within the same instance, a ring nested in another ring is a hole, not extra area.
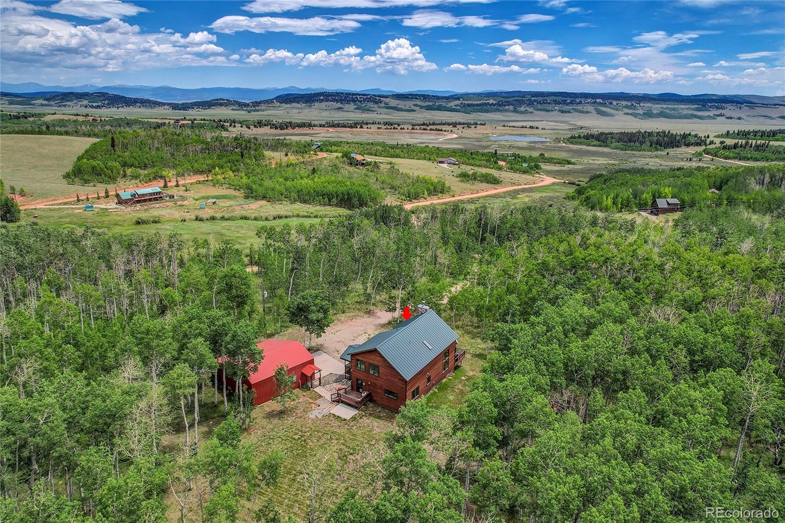
M 60 90 L 60 88 L 66 90 Z M 27 89 L 27 91 L 25 91 Z M 92 90 L 86 90 L 92 89 Z M 107 91 L 113 89 L 115 92 Z M 172 91 L 178 93 L 173 93 Z M 120 91 L 120 92 L 117 92 Z M 168 93 L 168 94 L 167 94 Z M 228 96 L 218 96 L 228 94 Z M 133 96 L 131 96 L 133 95 Z M 389 90 L 330 91 L 311 88 L 283 87 L 248 89 L 232 87 L 209 87 L 183 90 L 175 87 L 151 86 L 43 86 L 38 83 L 9 84 L 0 82 L 0 96 L 9 106 L 69 109 L 119 109 L 119 108 L 164 108 L 172 111 L 192 111 L 213 108 L 254 111 L 271 105 L 335 104 L 337 110 L 356 112 L 461 112 L 481 114 L 498 111 L 523 111 L 542 107 L 562 106 L 564 111 L 573 106 L 626 104 L 652 106 L 681 106 L 684 110 L 708 112 L 722 110 L 733 105 L 785 105 L 785 97 L 763 97 L 739 94 L 693 94 L 677 93 L 571 93 L 567 91 L 480 91 L 454 93 L 452 91 L 412 91 L 398 93 Z M 172 97 L 181 100 L 171 101 Z M 249 99 L 251 99 L 249 101 Z M 700 107 L 696 109 L 696 107 Z M 560 108 L 560 111 L 562 111 Z M 679 112 L 684 112 L 680 109 Z M 621 110 L 621 109 L 619 109 Z M 577 111 L 577 109 L 576 109 Z M 650 111 L 651 112 L 651 111 Z M 679 118 L 685 115 L 663 114 L 663 118 Z M 695 114 L 688 114 L 696 118 Z M 652 118 L 656 115 L 652 113 Z M 711 118 L 711 117 L 709 117 Z

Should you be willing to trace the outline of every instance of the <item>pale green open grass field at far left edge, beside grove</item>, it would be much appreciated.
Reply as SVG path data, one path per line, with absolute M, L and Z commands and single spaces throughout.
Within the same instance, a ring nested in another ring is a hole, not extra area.
M 24 188 L 34 198 L 95 192 L 89 185 L 69 185 L 63 177 L 93 141 L 70 136 L 0 135 L 0 176 L 5 190 L 14 185 L 17 191 Z

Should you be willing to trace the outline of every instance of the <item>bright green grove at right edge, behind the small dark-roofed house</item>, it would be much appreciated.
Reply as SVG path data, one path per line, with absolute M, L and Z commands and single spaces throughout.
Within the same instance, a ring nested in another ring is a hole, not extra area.
M 687 206 L 708 202 L 744 204 L 760 212 L 782 215 L 785 166 L 615 170 L 591 177 L 568 198 L 592 210 L 630 211 L 649 207 L 655 198 L 677 198 Z

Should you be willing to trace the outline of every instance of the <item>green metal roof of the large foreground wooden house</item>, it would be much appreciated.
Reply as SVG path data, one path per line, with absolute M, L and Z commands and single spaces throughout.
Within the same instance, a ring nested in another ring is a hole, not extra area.
M 367 342 L 346 347 L 341 360 L 349 361 L 352 354 L 377 349 L 403 379 L 408 380 L 457 339 L 455 331 L 429 309 L 389 331 L 380 332 Z

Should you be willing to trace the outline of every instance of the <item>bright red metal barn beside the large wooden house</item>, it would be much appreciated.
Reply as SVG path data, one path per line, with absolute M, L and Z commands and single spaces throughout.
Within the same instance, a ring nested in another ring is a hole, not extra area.
M 321 385 L 321 369 L 313 364 L 313 355 L 308 352 L 302 343 L 287 339 L 265 339 L 257 343 L 265 358 L 261 360 L 259 368 L 248 379 L 243 380 L 246 389 L 254 391 L 254 405 L 261 405 L 272 400 L 276 394 L 276 382 L 272 376 L 280 364 L 287 366 L 289 375 L 294 375 L 294 388 L 303 385 Z M 221 379 L 223 371 L 218 371 Z M 235 380 L 226 377 L 227 390 L 235 390 Z

